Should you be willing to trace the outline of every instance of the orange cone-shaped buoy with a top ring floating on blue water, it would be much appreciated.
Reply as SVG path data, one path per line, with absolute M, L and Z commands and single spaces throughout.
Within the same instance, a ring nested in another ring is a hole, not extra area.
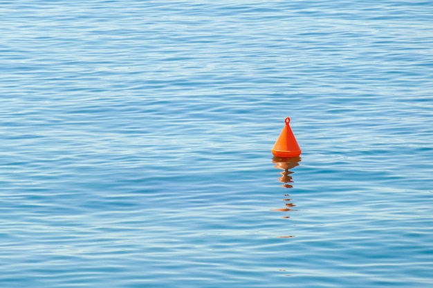
M 270 150 L 275 157 L 279 158 L 290 158 L 298 157 L 301 154 L 300 146 L 297 144 L 295 135 L 293 135 L 291 126 L 288 123 L 291 121 L 289 117 L 284 119 L 286 125 L 283 130 L 279 133 L 277 141 Z

